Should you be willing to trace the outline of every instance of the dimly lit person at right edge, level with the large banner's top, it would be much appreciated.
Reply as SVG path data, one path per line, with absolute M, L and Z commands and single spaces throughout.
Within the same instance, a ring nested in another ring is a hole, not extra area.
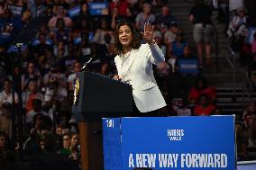
M 256 105 L 254 102 L 248 103 L 245 111 L 242 114 L 245 128 L 248 133 L 249 147 L 256 146 Z

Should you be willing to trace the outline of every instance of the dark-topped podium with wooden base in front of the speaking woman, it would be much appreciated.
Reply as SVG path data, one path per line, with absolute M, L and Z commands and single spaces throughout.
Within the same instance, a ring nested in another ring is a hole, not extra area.
M 78 120 L 82 170 L 101 170 L 101 118 L 132 116 L 132 86 L 86 71 L 77 74 L 74 86 L 72 112 Z

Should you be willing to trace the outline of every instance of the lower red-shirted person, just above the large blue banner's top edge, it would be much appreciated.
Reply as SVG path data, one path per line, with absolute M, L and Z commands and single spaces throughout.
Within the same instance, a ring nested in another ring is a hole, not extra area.
M 208 99 L 208 95 L 201 94 L 198 97 L 197 105 L 194 109 L 194 115 L 196 116 L 209 116 L 214 114 L 215 105 Z

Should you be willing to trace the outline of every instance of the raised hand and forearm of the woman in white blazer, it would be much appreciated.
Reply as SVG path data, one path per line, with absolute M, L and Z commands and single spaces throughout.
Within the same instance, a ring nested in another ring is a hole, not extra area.
M 151 63 L 157 65 L 160 62 L 164 61 L 164 55 L 157 43 L 153 40 L 153 31 L 154 27 L 151 25 L 151 23 L 146 22 L 144 24 L 143 38 L 145 42 L 149 44 L 149 47 L 151 49 L 151 53 L 149 56 Z

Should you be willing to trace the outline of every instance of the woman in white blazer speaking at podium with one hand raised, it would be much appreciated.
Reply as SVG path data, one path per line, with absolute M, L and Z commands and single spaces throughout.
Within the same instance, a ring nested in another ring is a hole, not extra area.
M 144 24 L 145 44 L 141 44 L 142 36 L 128 22 L 119 23 L 114 35 L 117 49 L 114 62 L 118 72 L 114 79 L 132 85 L 137 109 L 149 114 L 166 105 L 153 76 L 152 64 L 164 62 L 162 51 L 153 40 L 153 30 L 151 23 Z

